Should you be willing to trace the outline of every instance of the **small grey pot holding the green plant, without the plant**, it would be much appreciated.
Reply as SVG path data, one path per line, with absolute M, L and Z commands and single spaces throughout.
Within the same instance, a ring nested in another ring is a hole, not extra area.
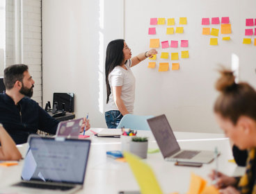
M 147 158 L 147 145 L 148 141 L 131 141 L 130 152 L 142 159 Z

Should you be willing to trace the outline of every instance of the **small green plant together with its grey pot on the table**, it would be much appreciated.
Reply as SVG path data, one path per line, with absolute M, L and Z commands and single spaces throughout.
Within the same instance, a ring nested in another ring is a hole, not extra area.
M 131 138 L 130 152 L 142 159 L 147 158 L 147 137 L 135 136 Z

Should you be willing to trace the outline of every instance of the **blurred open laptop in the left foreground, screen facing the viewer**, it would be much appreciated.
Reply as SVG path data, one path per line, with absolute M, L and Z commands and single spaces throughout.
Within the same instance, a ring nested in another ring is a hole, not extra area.
M 4 192 L 74 193 L 83 188 L 90 140 L 29 136 L 22 181 Z

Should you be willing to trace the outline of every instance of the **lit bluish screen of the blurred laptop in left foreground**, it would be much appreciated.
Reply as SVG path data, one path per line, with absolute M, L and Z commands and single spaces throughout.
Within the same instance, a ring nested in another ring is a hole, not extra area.
M 90 140 L 30 136 L 22 179 L 83 184 Z

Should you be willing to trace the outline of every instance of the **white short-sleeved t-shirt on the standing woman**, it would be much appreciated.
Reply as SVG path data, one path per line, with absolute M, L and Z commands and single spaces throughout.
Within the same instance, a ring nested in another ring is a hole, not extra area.
M 109 95 L 109 103 L 106 104 L 105 111 L 118 110 L 113 98 L 112 87 L 122 86 L 121 98 L 129 114 L 134 113 L 134 99 L 135 99 L 135 77 L 131 71 L 131 60 L 127 60 L 124 69 L 117 66 L 109 73 L 109 85 L 111 87 L 111 94 Z

